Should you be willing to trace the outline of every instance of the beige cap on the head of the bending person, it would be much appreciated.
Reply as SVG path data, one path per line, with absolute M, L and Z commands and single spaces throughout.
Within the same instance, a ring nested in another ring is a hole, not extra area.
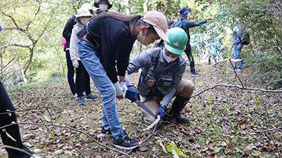
M 168 42 L 170 44 L 168 37 L 166 36 L 166 29 L 167 29 L 167 21 L 164 15 L 159 11 L 147 11 L 144 13 L 141 20 L 147 22 L 148 24 L 152 25 L 154 29 L 156 29 L 157 34 L 161 39 Z

